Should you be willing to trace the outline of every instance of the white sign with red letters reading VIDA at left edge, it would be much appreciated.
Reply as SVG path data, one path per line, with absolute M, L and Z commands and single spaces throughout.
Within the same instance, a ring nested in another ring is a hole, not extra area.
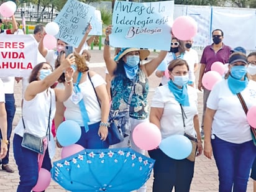
M 28 77 L 37 65 L 37 42 L 32 35 L 1 35 L 0 76 Z

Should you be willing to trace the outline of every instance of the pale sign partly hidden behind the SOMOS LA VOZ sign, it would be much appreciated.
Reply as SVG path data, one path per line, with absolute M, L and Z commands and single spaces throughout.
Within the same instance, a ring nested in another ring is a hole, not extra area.
M 103 34 L 103 22 L 101 21 L 101 11 L 95 10 L 94 16 L 91 19 L 91 31 L 89 35 L 102 35 Z

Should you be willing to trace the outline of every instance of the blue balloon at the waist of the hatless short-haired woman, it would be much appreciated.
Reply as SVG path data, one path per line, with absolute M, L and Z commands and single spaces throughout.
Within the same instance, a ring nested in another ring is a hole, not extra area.
M 168 157 L 181 160 L 188 157 L 192 152 L 192 143 L 184 135 L 171 135 L 162 140 L 159 148 Z

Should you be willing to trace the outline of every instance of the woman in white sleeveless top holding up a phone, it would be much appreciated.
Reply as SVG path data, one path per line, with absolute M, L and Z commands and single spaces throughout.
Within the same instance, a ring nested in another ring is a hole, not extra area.
M 17 191 L 31 191 L 36 185 L 39 175 L 39 162 L 37 161 L 39 153 L 21 146 L 24 125 L 26 132 L 30 134 L 37 135 L 37 137 L 44 137 L 46 135 L 48 122 L 51 124 L 55 114 L 55 101 L 65 101 L 72 93 L 73 85 L 70 81 L 73 70 L 70 66 L 71 63 L 75 62 L 75 59 L 71 57 L 72 55 L 70 54 L 65 59 L 65 55 L 63 55 L 62 65 L 53 72 L 52 67 L 48 63 L 39 63 L 31 71 L 29 85 L 25 90 L 22 106 L 22 119 L 24 123 L 21 119 L 14 129 L 14 158 L 20 175 Z M 51 89 L 50 86 L 58 80 L 63 70 L 66 70 L 65 89 Z M 49 115 L 50 121 L 48 121 Z M 50 158 L 53 157 L 54 150 L 55 145 L 52 139 L 44 153 L 42 168 L 50 171 L 52 168 Z

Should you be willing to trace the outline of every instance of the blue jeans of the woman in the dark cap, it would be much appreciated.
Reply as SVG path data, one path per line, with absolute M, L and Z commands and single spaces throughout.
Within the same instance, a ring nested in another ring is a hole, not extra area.
M 211 140 L 213 155 L 219 171 L 220 192 L 246 192 L 250 168 L 256 157 L 252 140 L 242 144 L 226 142 L 215 136 Z

